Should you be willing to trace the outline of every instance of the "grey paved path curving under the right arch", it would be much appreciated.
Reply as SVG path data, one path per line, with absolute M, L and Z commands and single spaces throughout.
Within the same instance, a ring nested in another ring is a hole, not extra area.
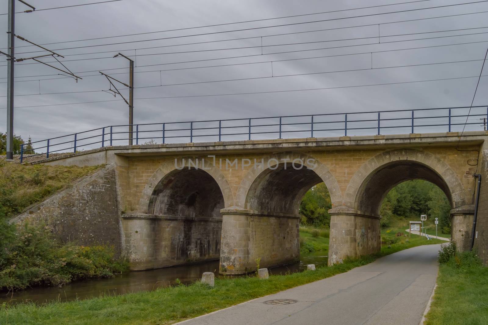
M 439 248 L 410 248 L 331 278 L 178 324 L 418 325 L 435 285 Z M 277 299 L 296 303 L 264 303 Z

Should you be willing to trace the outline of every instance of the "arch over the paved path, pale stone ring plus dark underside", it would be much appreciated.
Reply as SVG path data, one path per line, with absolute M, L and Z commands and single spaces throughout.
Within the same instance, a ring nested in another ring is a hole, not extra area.
M 403 149 L 382 152 L 366 161 L 353 175 L 343 205 L 362 214 L 379 216 L 383 198 L 395 185 L 423 179 L 437 185 L 452 208 L 466 204 L 465 189 L 449 165 L 430 152 Z

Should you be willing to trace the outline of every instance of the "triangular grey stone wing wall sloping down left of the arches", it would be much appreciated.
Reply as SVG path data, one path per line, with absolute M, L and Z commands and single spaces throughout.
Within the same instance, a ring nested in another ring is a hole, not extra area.
M 32 206 L 11 222 L 45 224 L 61 242 L 113 245 L 120 256 L 121 229 L 115 184 L 115 165 L 106 166 Z

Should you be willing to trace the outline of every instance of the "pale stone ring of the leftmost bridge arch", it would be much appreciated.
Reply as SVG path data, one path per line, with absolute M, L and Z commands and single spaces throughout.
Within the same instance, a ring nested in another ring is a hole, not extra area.
M 195 163 L 195 167 L 192 164 L 192 168 L 189 169 L 187 159 L 191 159 L 192 162 Z M 150 204 L 154 203 L 151 202 L 151 197 L 153 196 L 155 191 L 157 191 L 158 188 L 161 187 L 161 182 L 163 181 L 163 179 L 174 173 L 180 172 L 177 166 L 181 169 L 181 166 L 183 165 L 185 166 L 183 170 L 200 171 L 201 173 L 203 172 L 209 175 L 213 180 L 215 180 L 220 188 L 220 191 L 222 192 L 224 198 L 224 206 L 227 207 L 234 205 L 234 195 L 232 194 L 230 185 L 220 169 L 212 164 L 211 159 L 207 160 L 205 158 L 180 157 L 176 158 L 175 160 L 166 162 L 160 168 L 158 168 L 151 175 L 151 177 L 149 177 L 146 185 L 144 186 L 144 189 L 142 190 L 142 195 L 139 200 L 138 211 L 143 213 L 151 213 L 149 211 Z

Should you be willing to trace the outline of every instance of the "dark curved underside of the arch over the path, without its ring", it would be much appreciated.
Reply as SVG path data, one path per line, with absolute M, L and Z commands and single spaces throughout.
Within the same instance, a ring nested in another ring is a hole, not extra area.
M 441 175 L 417 161 L 398 160 L 382 165 L 366 177 L 357 192 L 355 209 L 365 215 L 379 217 L 387 193 L 396 185 L 413 179 L 425 180 L 439 187 L 453 207 L 452 195 Z

